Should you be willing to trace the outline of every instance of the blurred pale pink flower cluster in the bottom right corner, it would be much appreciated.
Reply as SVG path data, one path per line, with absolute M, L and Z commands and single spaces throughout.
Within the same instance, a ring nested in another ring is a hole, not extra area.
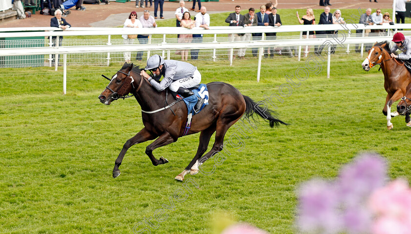
M 369 208 L 375 213 L 374 234 L 411 234 L 411 189 L 407 181 L 397 179 L 375 190 Z

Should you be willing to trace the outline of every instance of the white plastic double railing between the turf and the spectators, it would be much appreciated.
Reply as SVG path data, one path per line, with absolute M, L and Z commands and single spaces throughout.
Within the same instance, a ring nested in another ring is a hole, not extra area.
M 46 36 L 85 36 L 85 35 L 122 35 L 122 34 L 162 34 L 162 43 L 157 44 L 134 44 L 134 45 L 101 45 L 101 46 L 82 46 L 82 47 L 19 47 L 19 48 L 0 48 L 0 56 L 11 55 L 35 55 L 35 54 L 55 54 L 57 61 L 58 54 L 63 55 L 64 61 L 64 94 L 66 93 L 66 65 L 67 54 L 73 53 L 92 53 L 92 52 L 128 52 L 128 51 L 149 51 L 149 50 L 175 50 L 175 49 L 231 49 L 229 56 L 230 64 L 232 63 L 232 49 L 234 48 L 259 48 L 258 56 L 258 71 L 257 81 L 259 81 L 261 58 L 263 56 L 264 47 L 298 47 L 298 60 L 300 59 L 301 46 L 320 46 L 325 45 L 326 49 L 330 50 L 330 45 L 361 44 L 361 51 L 365 43 L 375 43 L 376 41 L 390 40 L 392 37 L 364 37 L 365 29 L 392 29 L 398 28 L 411 29 L 411 24 L 396 24 L 396 25 L 363 25 L 363 24 L 329 24 L 329 25 L 283 25 L 280 27 L 272 26 L 250 26 L 250 27 L 229 27 L 229 26 L 215 26 L 210 27 L 210 30 L 204 28 L 181 28 L 181 27 L 159 27 L 159 28 L 68 28 L 62 31 L 55 27 L 33 27 L 33 28 L 0 28 L 0 38 L 7 37 L 46 37 Z M 328 38 L 305 38 L 302 39 L 303 31 L 334 31 L 338 30 L 340 33 L 337 36 L 328 35 Z M 362 37 L 351 37 L 353 30 L 362 30 Z M 234 33 L 259 33 L 259 32 L 299 32 L 300 39 L 289 40 L 262 40 L 260 41 L 246 41 L 246 42 L 217 42 L 215 40 L 217 34 L 234 34 Z M 165 35 L 167 34 L 214 34 L 214 41 L 212 43 L 166 43 Z M 51 45 L 51 39 L 50 39 Z M 58 43 L 56 43 L 58 45 Z M 328 47 L 327 47 L 328 45 Z M 348 51 L 348 50 L 347 50 Z M 361 52 L 361 56 L 363 52 Z M 327 56 L 327 78 L 329 77 L 329 63 L 330 53 Z M 56 70 L 58 64 L 55 63 Z

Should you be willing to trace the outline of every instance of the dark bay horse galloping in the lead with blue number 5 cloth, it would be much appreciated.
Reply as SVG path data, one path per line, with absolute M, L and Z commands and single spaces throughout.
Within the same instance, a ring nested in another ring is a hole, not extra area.
M 261 107 L 252 101 L 250 97 L 242 95 L 229 84 L 211 82 L 207 84 L 207 89 L 209 93 L 208 105 L 200 113 L 193 116 L 191 128 L 188 131 L 188 134 L 201 132 L 198 150 L 185 170 L 176 176 L 175 179 L 180 181 L 183 181 L 184 176 L 188 173 L 191 175 L 196 174 L 199 162 L 201 165 L 212 155 L 223 149 L 224 136 L 228 128 L 243 115 L 252 117 L 256 113 L 269 121 L 270 127 L 278 126 L 280 123 L 286 125 L 283 121 L 273 117 L 273 111 Z M 141 106 L 144 128 L 124 144 L 115 160 L 113 178 L 120 174 L 118 167 L 127 150 L 132 145 L 147 140 L 156 139 L 145 150 L 153 165 L 157 166 L 168 163 L 163 157 L 157 160 L 152 152 L 154 149 L 175 142 L 178 138 L 182 137 L 187 119 L 188 111 L 185 103 L 183 101 L 176 102 L 171 94 L 167 95 L 167 89 L 158 92 L 145 78 L 140 76 L 140 69 L 133 67 L 133 64 L 125 63 L 121 70 L 114 74 L 109 85 L 98 98 L 101 103 L 110 105 L 113 100 L 129 93 L 134 94 Z M 174 102 L 176 103 L 172 104 Z M 172 104 L 170 108 L 155 112 L 170 104 Z M 216 134 L 213 147 L 203 156 L 214 132 Z

